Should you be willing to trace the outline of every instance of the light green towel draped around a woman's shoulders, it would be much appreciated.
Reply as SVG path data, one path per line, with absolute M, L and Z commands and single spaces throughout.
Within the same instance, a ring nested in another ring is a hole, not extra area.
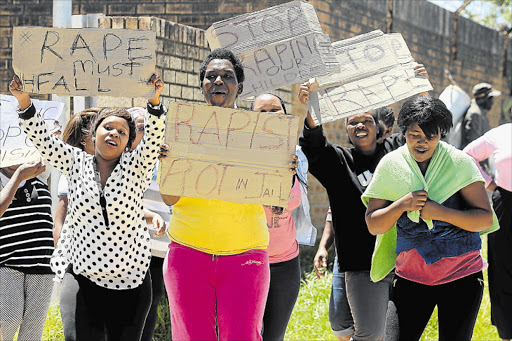
M 380 160 L 361 199 L 368 206 L 370 198 L 396 201 L 410 192 L 423 189 L 428 192 L 429 199 L 441 204 L 462 188 L 477 181 L 485 183 L 475 160 L 443 141 L 437 144 L 425 177 L 409 153 L 407 145 L 404 145 Z M 411 221 L 420 221 L 420 211 L 407 212 L 407 216 Z M 425 219 L 425 223 L 429 229 L 433 227 L 430 219 Z M 492 228 L 480 234 L 493 232 L 498 228 L 498 220 L 493 211 Z M 386 277 L 395 267 L 395 250 L 396 225 L 377 236 L 370 272 L 374 282 Z

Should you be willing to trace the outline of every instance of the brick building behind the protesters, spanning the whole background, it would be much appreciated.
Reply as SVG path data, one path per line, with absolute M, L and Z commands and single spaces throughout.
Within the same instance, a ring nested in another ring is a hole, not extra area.
M 157 72 L 166 82 L 168 100 L 202 102 L 197 73 L 209 51 L 204 36 L 213 22 L 242 13 L 274 6 L 286 0 L 206 1 L 206 0 L 74 0 L 73 14 L 103 13 L 100 27 L 140 28 L 157 32 Z M 503 92 L 490 114 L 491 125 L 511 121 L 500 108 L 512 95 L 512 41 L 503 34 L 465 18 L 459 19 L 457 57 L 450 44 L 453 15 L 425 0 L 311 0 L 323 31 L 331 41 L 349 38 L 375 29 L 400 32 L 418 62 L 427 66 L 434 96 L 449 84 L 444 70 L 470 93 L 476 83 L 492 83 Z M 144 17 L 144 18 L 139 18 Z M 153 17 L 153 18 L 149 18 Z M 188 26 L 185 26 L 188 25 Z M 3 0 L 0 4 L 0 93 L 8 93 L 12 71 L 12 27 L 52 26 L 51 0 Z M 505 50 L 507 48 L 508 51 Z M 304 113 L 296 101 L 296 88 L 280 91 L 295 112 Z M 100 104 L 140 105 L 140 99 L 103 99 Z M 242 103 L 247 107 L 248 103 Z M 394 105 L 395 112 L 399 105 Z M 325 125 L 328 138 L 345 144 L 343 120 Z M 328 206 L 321 185 L 310 179 L 313 223 L 323 226 Z

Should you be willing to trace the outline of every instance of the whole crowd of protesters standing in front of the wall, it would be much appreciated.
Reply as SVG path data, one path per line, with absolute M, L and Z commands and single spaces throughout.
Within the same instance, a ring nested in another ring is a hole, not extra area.
M 428 77 L 421 64 L 415 72 Z M 235 54 L 213 50 L 198 73 L 207 105 L 236 107 L 247 75 Z M 428 93 L 402 105 L 399 133 L 389 107 L 346 118 L 349 147 L 307 112 L 286 207 L 162 194 L 166 222 L 143 204 L 169 151 L 158 75 L 146 109 L 91 108 L 58 135 L 15 75 L 20 126 L 41 160 L 0 169 L 0 337 L 41 339 L 55 276 L 66 340 L 150 340 L 163 283 L 173 340 L 283 340 L 300 290 L 299 244 L 316 233 L 309 172 L 329 197 L 314 268 L 323 276 L 335 245 L 329 322 L 338 340 L 418 340 L 436 306 L 440 339 L 470 340 L 487 267 L 492 323 L 511 339 L 512 125 L 489 130 L 499 92 L 482 84 L 473 94 L 484 109 L 466 115 L 464 151 L 441 140 L 452 114 Z M 311 86 L 300 85 L 303 105 Z M 273 93 L 252 110 L 293 114 Z M 494 179 L 475 162 L 491 155 Z M 62 173 L 54 217 L 46 165 Z M 165 259 L 151 255 L 148 224 L 170 239 Z

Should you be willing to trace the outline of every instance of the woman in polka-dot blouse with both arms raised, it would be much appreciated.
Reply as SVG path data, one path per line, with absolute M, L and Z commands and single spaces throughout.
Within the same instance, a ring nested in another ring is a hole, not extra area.
M 94 155 L 51 136 L 20 79 L 14 76 L 9 85 L 23 130 L 68 179 L 72 264 L 58 270 L 65 271 L 61 315 L 66 340 L 141 337 L 151 303 L 142 196 L 157 159 L 165 113 L 159 99 L 163 81 L 153 75 L 148 85 L 155 95 L 148 101 L 143 142 L 130 152 L 136 134 L 132 116 L 125 109 L 104 108 L 92 125 Z

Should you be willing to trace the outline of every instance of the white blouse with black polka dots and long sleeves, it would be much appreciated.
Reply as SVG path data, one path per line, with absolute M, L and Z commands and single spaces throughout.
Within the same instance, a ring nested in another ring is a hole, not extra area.
M 154 109 L 148 105 L 143 140 L 134 151 L 121 156 L 107 179 L 108 226 L 100 205 L 93 156 L 50 135 L 33 105 L 20 113 L 20 127 L 69 184 L 66 223 L 52 261 L 57 276 L 63 276 L 69 261 L 76 274 L 105 288 L 131 289 L 142 283 L 151 258 L 142 197 L 157 161 L 165 112 L 163 106 Z

